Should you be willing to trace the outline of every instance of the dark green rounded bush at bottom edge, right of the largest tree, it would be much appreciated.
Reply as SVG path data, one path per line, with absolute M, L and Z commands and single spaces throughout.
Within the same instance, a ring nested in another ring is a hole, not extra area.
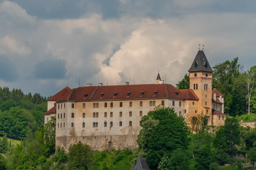
M 195 168 L 198 170 L 209 170 L 210 164 L 214 161 L 209 147 L 203 146 L 195 152 Z

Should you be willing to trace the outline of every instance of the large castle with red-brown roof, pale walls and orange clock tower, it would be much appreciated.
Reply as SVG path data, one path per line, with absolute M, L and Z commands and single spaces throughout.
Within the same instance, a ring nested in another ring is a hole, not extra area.
M 173 107 L 188 125 L 203 112 L 208 125 L 220 126 L 226 119 L 224 96 L 212 89 L 212 72 L 199 50 L 189 69 L 189 89 L 164 84 L 159 73 L 156 84 L 65 87 L 48 99 L 45 123 L 56 116 L 56 147 L 66 150 L 79 141 L 92 150 L 136 148 L 141 117 L 157 105 Z

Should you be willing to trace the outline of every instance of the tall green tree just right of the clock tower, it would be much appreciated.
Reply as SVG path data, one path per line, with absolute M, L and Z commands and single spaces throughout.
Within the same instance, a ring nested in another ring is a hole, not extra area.
M 238 57 L 213 67 L 213 87 L 225 96 L 224 110 L 229 115 L 246 113 L 246 73 Z

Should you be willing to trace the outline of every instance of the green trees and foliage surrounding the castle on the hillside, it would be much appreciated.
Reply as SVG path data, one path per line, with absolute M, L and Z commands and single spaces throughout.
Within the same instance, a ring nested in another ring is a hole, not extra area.
M 225 96 L 225 125 L 207 126 L 198 113 L 193 127 L 173 108 L 157 106 L 142 117 L 139 148 L 93 152 L 86 144 L 55 148 L 55 118 L 44 123 L 47 98 L 0 87 L 0 170 L 130 170 L 144 157 L 150 170 L 255 169 L 256 66 L 244 70 L 238 58 L 213 67 L 213 88 Z M 177 84 L 189 88 L 189 76 Z M 224 164 L 231 164 L 225 167 Z

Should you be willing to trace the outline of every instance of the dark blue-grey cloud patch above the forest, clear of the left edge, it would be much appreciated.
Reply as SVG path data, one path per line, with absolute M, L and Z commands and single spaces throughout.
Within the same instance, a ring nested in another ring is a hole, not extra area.
M 34 67 L 34 76 L 42 79 L 65 78 L 67 73 L 66 63 L 63 59 L 40 61 Z

